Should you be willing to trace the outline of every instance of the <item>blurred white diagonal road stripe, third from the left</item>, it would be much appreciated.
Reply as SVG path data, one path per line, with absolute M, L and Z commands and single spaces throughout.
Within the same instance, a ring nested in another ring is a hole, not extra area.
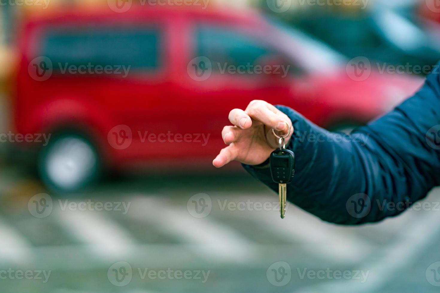
M 145 196 L 134 197 L 131 202 L 128 213 L 131 217 L 153 224 L 184 243 L 193 243 L 193 252 L 202 257 L 242 264 L 249 264 L 256 258 L 255 243 L 213 221 L 212 217 L 192 217 L 186 204 L 177 208 L 165 200 Z

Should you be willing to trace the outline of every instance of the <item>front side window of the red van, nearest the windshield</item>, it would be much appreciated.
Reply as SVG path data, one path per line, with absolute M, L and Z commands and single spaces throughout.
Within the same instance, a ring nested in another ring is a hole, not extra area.
M 245 34 L 206 25 L 196 30 L 196 46 L 197 56 L 208 57 L 213 70 L 224 65 L 261 65 L 259 59 L 273 53 L 263 43 Z

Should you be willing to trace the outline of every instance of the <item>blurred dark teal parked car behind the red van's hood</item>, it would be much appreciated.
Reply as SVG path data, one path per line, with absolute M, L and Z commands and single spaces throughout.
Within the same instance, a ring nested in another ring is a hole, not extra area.
M 440 60 L 440 45 L 424 25 L 386 7 L 363 14 L 295 15 L 290 22 L 348 58 L 365 56 L 381 64 L 408 64 L 410 70 L 429 65 L 429 70 L 414 70 L 422 74 Z

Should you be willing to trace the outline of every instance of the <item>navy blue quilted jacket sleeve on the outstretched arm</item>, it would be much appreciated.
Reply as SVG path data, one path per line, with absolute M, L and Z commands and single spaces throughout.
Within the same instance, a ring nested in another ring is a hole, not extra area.
M 294 127 L 287 148 L 297 157 L 287 199 L 324 221 L 364 224 L 400 214 L 440 179 L 440 81 L 425 85 L 392 112 L 350 135 L 330 133 L 277 106 Z M 278 193 L 266 166 L 245 169 Z

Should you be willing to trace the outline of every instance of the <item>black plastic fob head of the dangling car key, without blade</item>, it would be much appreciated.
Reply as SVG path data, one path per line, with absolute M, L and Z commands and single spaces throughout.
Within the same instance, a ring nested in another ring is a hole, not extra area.
M 276 149 L 269 158 L 272 180 L 290 183 L 295 174 L 295 154 L 288 149 Z

